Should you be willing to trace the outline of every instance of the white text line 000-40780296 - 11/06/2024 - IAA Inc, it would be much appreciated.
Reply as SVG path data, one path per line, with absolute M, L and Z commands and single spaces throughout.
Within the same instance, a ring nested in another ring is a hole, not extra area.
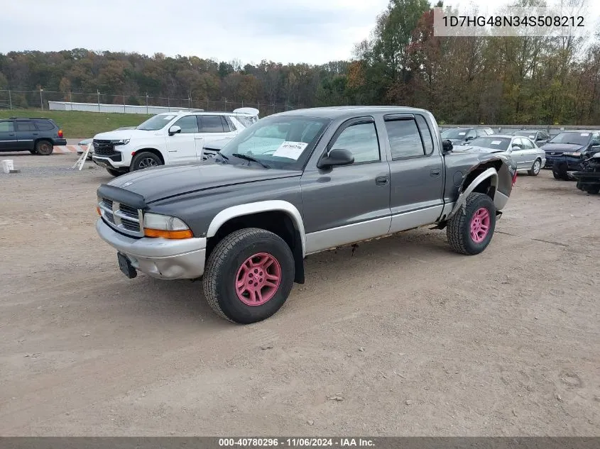
M 305 447 L 374 447 L 369 438 L 219 438 L 219 446 L 224 448 L 290 448 Z

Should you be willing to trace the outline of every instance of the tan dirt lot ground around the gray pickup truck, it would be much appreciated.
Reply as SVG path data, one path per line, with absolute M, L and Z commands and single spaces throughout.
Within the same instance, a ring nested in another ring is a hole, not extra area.
M 479 256 L 427 229 L 311 256 L 236 326 L 199 282 L 121 275 L 104 170 L 10 157 L 1 435 L 600 436 L 600 196 L 572 182 L 520 176 Z

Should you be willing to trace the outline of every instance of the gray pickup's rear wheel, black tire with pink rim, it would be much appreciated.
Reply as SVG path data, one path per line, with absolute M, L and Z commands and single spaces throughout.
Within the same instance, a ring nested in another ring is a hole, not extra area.
M 448 243 L 460 254 L 476 255 L 489 245 L 496 229 L 496 206 L 486 194 L 471 193 L 446 228 Z

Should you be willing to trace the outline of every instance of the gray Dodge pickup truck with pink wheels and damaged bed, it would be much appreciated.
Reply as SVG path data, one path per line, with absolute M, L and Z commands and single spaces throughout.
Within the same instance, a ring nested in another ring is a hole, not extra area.
M 127 277 L 202 277 L 219 316 L 253 323 L 305 282 L 312 253 L 425 225 L 481 253 L 515 181 L 505 155 L 453 153 L 428 111 L 304 109 L 262 118 L 204 162 L 102 184 L 96 228 Z

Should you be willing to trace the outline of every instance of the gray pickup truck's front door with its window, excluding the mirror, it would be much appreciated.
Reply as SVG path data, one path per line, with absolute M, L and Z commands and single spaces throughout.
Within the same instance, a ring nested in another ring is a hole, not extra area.
M 307 167 L 302 174 L 307 253 L 385 235 L 390 228 L 390 166 L 373 118 L 342 124 L 327 145 L 328 151 L 336 148 L 349 150 L 354 164 Z

